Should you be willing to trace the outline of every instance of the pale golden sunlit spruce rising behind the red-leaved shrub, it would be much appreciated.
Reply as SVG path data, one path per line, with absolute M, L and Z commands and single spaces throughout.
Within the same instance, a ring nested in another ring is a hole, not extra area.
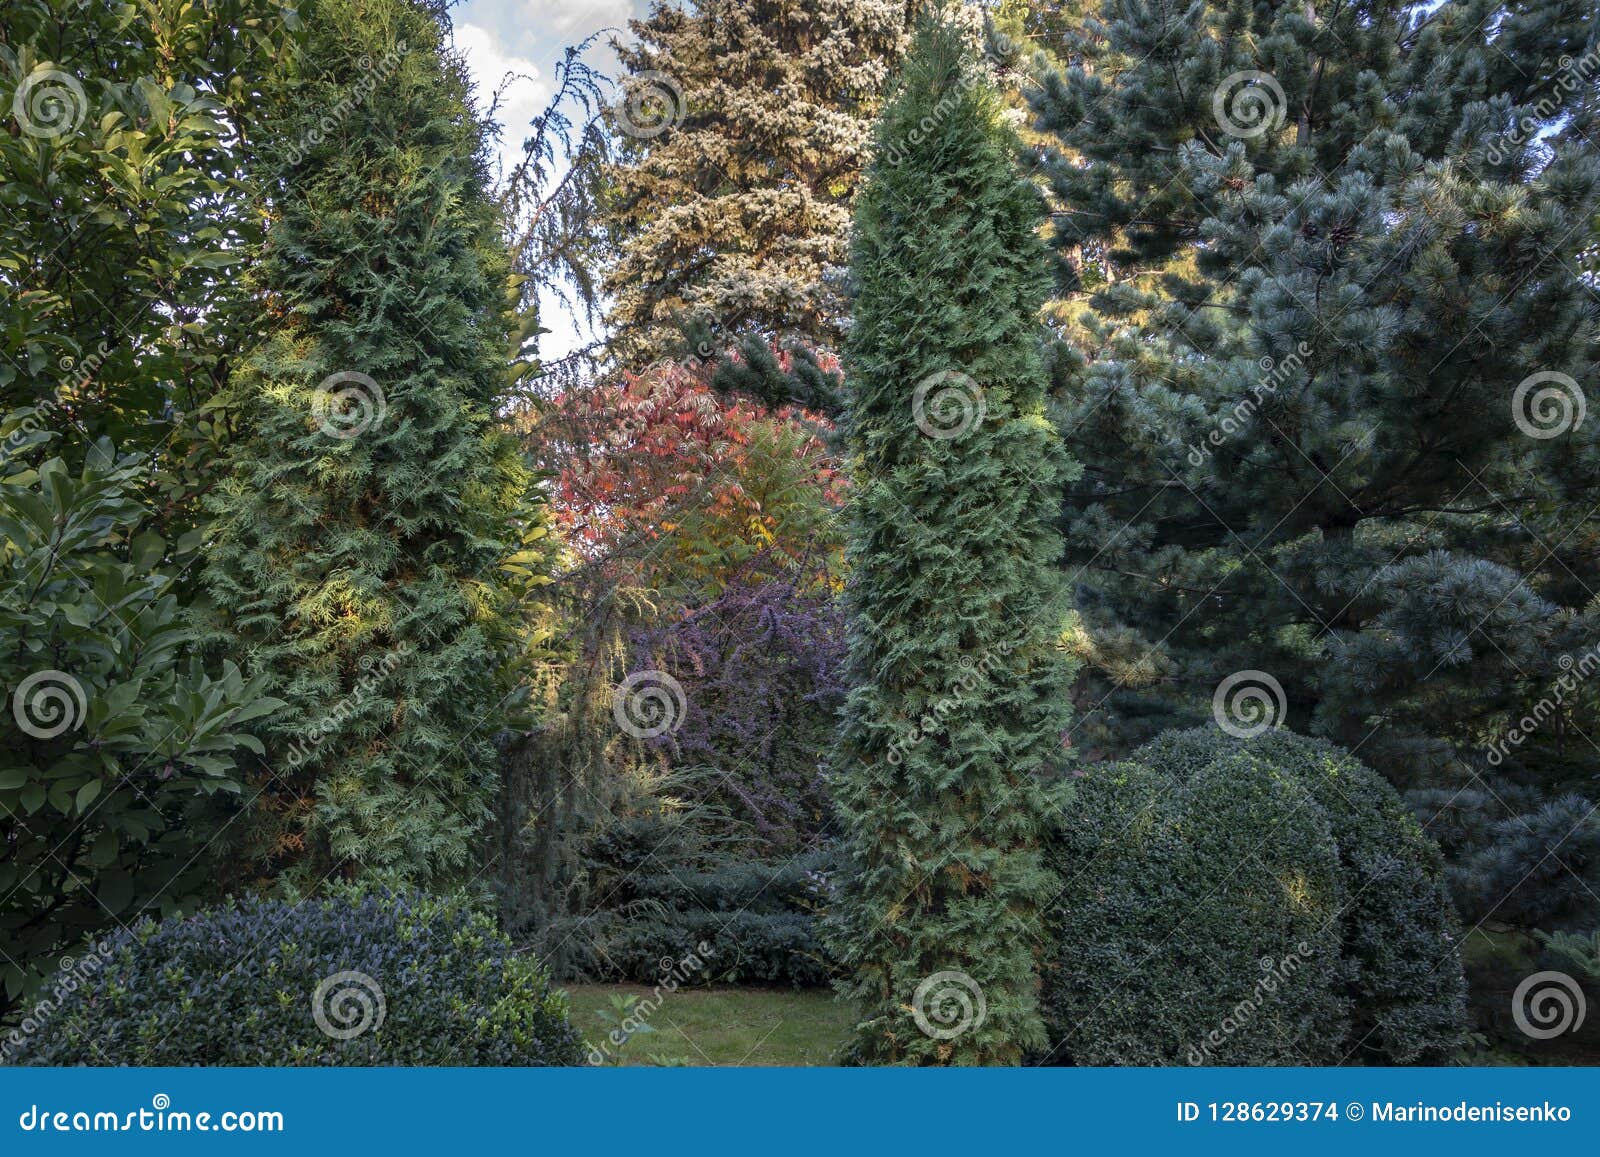
M 619 46 L 605 278 L 624 355 L 678 326 L 837 349 L 850 202 L 907 0 L 658 3 Z

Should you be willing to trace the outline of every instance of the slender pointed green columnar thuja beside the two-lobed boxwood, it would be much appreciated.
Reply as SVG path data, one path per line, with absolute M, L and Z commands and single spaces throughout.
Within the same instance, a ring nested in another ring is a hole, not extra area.
M 1006 1064 L 1043 1042 L 1067 464 L 1043 416 L 1042 203 L 1000 109 L 960 34 L 925 24 L 856 210 L 834 939 L 861 1063 Z

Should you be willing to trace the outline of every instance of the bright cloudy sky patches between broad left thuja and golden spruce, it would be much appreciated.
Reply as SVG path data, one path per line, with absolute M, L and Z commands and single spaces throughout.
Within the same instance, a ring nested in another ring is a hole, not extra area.
M 483 101 L 507 74 L 520 74 L 502 98 L 499 120 L 506 126 L 502 155 L 522 142 L 520 125 L 544 107 L 554 86 L 555 62 L 566 45 L 590 32 L 614 27 L 626 35 L 629 16 L 642 16 L 648 0 L 462 0 L 451 11 L 456 43 L 478 83 Z M 610 37 L 605 37 L 608 40 Z M 595 45 L 590 64 L 616 74 L 616 56 Z M 544 357 L 558 357 L 594 334 L 581 331 L 555 302 L 541 309 L 550 333 L 539 339 Z

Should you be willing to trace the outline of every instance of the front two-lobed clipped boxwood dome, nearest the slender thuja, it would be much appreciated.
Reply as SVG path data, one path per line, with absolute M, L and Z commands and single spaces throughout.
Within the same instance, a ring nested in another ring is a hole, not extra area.
M 1302 786 L 1245 752 L 1184 781 L 1109 763 L 1083 775 L 1064 816 L 1050 1063 L 1336 1059 L 1344 893 Z

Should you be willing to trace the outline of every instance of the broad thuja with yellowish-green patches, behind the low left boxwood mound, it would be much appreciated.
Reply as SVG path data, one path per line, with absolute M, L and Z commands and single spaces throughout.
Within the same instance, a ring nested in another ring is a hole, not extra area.
M 427 882 L 472 863 L 494 784 L 493 579 L 528 490 L 494 426 L 507 259 L 440 18 L 413 0 L 302 14 L 262 146 L 277 331 L 242 374 L 214 501 L 226 642 L 291 704 L 243 827 L 264 869 Z

